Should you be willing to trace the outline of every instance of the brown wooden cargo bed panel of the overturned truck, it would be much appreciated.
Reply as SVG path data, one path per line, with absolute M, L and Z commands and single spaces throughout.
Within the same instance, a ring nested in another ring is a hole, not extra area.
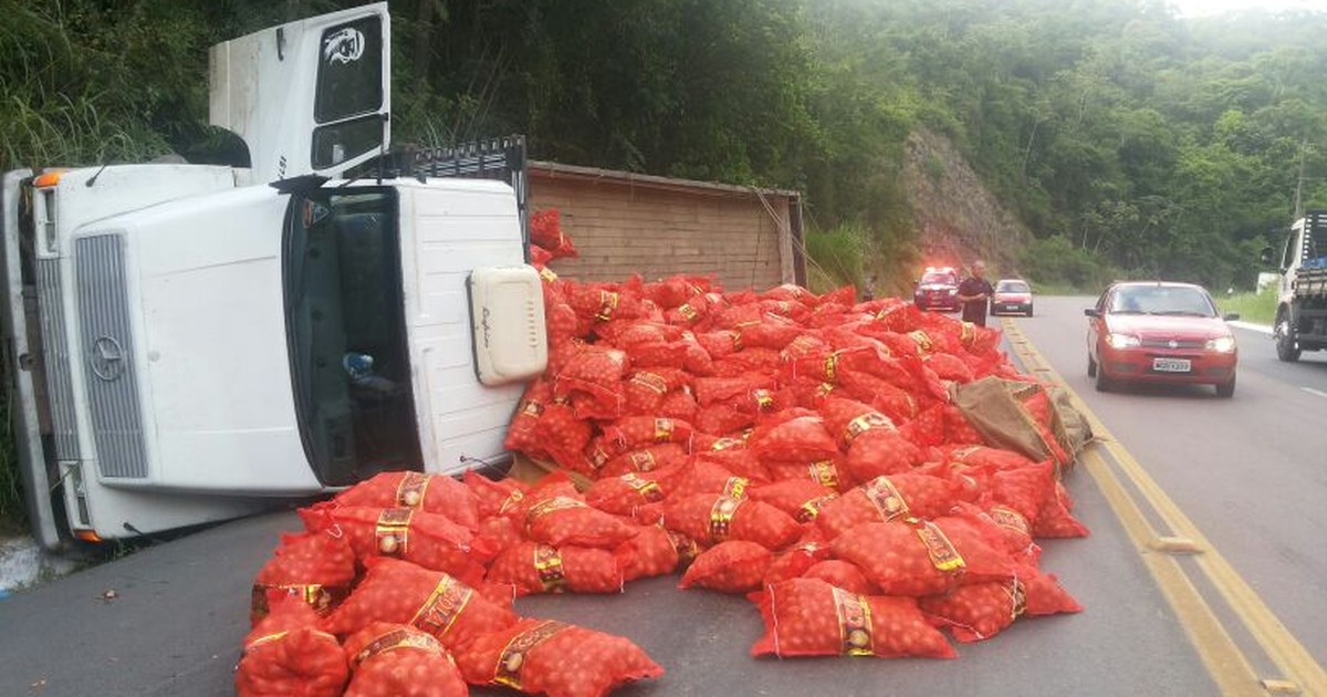
M 795 195 L 540 163 L 528 173 L 531 211 L 560 210 L 580 252 L 553 262 L 560 275 L 620 281 L 687 273 L 729 289 L 798 281 Z

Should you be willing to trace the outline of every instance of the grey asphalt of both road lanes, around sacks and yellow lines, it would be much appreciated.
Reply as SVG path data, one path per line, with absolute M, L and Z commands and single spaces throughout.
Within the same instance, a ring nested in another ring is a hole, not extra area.
M 1085 304 L 1039 299 L 1036 317 L 1014 321 L 1323 656 L 1327 568 L 1312 555 L 1327 532 L 1314 507 L 1327 501 L 1327 398 L 1299 385 L 1327 393 L 1327 364 L 1279 365 L 1259 352 L 1255 335 L 1241 335 L 1234 400 L 1188 389 L 1099 396 L 1080 365 Z M 762 631 L 754 605 L 678 591 L 675 576 L 612 596 L 525 597 L 516 609 L 632 637 L 666 669 L 621 696 L 1217 694 L 1190 629 L 1095 479 L 1076 469 L 1067 486 L 1092 535 L 1047 540 L 1042 568 L 1058 574 L 1085 612 L 1019 620 L 989 641 L 958 644 L 951 661 L 751 658 Z M 292 514 L 230 523 L 0 600 L 0 694 L 230 694 L 249 584 L 279 532 L 297 524 Z

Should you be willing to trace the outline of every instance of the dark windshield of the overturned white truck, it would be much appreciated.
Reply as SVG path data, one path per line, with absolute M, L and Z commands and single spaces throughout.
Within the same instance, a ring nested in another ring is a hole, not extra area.
M 292 195 L 283 267 L 296 413 L 318 479 L 418 469 L 395 191 Z

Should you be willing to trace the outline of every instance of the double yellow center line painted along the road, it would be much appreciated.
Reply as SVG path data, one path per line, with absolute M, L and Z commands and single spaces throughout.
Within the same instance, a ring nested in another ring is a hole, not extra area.
M 1016 329 L 1010 332 L 1011 328 L 1013 321 L 1005 320 L 1006 333 L 1018 333 L 1018 336 L 1022 337 L 1022 332 L 1016 332 Z M 1040 353 L 1030 341 L 1026 343 L 1026 347 L 1019 352 L 1019 356 L 1020 358 L 1031 357 L 1035 362 L 1047 365 L 1047 361 L 1042 358 Z M 1303 690 L 1304 694 L 1327 696 L 1327 672 L 1323 670 L 1322 665 L 1314 660 L 1312 655 L 1304 649 L 1303 644 L 1300 644 L 1294 635 L 1290 633 L 1286 625 L 1277 619 L 1275 613 L 1271 612 L 1271 608 L 1262 601 L 1258 593 L 1254 592 L 1254 589 L 1239 576 L 1234 567 L 1231 567 L 1230 563 L 1226 562 L 1226 559 L 1216 550 L 1216 547 L 1198 531 L 1198 527 L 1193 523 L 1193 520 L 1190 520 L 1170 499 L 1170 497 L 1165 494 L 1161 486 L 1157 485 L 1151 475 L 1148 475 L 1147 470 L 1144 470 L 1137 459 L 1135 459 L 1133 455 L 1120 445 L 1119 439 L 1116 439 L 1105 425 L 1101 424 L 1101 420 L 1091 409 L 1088 409 L 1083 398 L 1064 382 L 1059 373 L 1050 369 L 1044 372 L 1048 373 L 1047 377 L 1058 382 L 1068 393 L 1074 408 L 1078 409 L 1088 421 L 1088 425 L 1092 426 L 1092 433 L 1099 441 L 1095 445 L 1099 445 L 1100 449 L 1111 453 L 1111 457 L 1120 467 L 1120 471 L 1133 483 L 1135 487 L 1137 487 L 1143 499 L 1152 506 L 1170 531 L 1174 535 L 1190 539 L 1194 546 L 1204 550 L 1204 554 L 1194 558 L 1196 564 L 1208 576 L 1221 597 L 1230 605 L 1231 611 L 1245 624 L 1253 639 L 1267 653 L 1267 657 L 1277 665 L 1277 669 L 1282 670 L 1283 674 L 1277 677 L 1283 677 L 1287 678 L 1289 682 L 1294 682 Z M 1105 461 L 1101 459 L 1100 454 L 1092 447 L 1084 450 L 1084 459 L 1087 461 L 1096 458 L 1099 466 L 1095 469 L 1089 466 L 1088 471 L 1093 473 L 1093 479 L 1096 479 L 1097 485 L 1103 487 L 1103 491 L 1105 491 L 1107 485 L 1103 483 L 1101 478 L 1097 478 L 1093 470 L 1105 470 L 1105 473 L 1112 478 L 1113 473 L 1109 473 Z M 1113 483 L 1115 486 L 1119 486 L 1117 479 Z M 1141 511 L 1139 511 L 1137 504 L 1128 497 L 1127 493 L 1123 491 L 1123 489 L 1120 489 L 1120 495 L 1124 497 L 1123 501 L 1127 501 L 1128 506 L 1121 508 L 1120 506 L 1116 506 L 1115 501 L 1111 501 L 1111 507 L 1115 510 L 1116 516 L 1120 518 L 1121 523 L 1124 523 L 1125 528 L 1129 530 L 1129 522 L 1125 520 L 1125 515 L 1132 512 L 1141 516 Z M 1147 523 L 1145 519 L 1143 523 Z M 1151 531 L 1151 526 L 1148 526 L 1147 530 Z M 1145 538 L 1143 542 L 1145 543 L 1148 539 L 1153 539 L 1156 536 L 1156 534 L 1149 532 L 1149 538 Z M 1139 542 L 1137 538 L 1133 538 L 1132 531 L 1131 539 Z M 1144 555 L 1145 559 L 1147 556 L 1158 555 Z M 1170 563 L 1174 564 L 1173 560 L 1170 560 Z M 1149 568 L 1153 568 L 1152 564 L 1149 564 Z M 1178 570 L 1177 566 L 1174 568 Z M 1182 570 L 1178 571 L 1182 574 Z M 1157 578 L 1157 581 L 1168 599 L 1172 592 L 1177 592 L 1180 589 L 1168 588 L 1166 584 L 1169 581 L 1162 580 L 1162 576 L 1158 575 L 1154 568 L 1153 575 Z M 1198 595 L 1197 589 L 1193 588 L 1188 578 L 1184 578 L 1182 585 L 1188 587 L 1188 589 L 1196 595 L 1197 601 L 1201 603 L 1202 608 L 1205 608 L 1205 611 L 1210 615 L 1212 609 L 1205 601 L 1202 601 L 1201 595 Z M 1212 668 L 1213 664 L 1208 656 L 1208 651 L 1222 652 L 1223 649 L 1221 645 L 1230 641 L 1229 635 L 1226 635 L 1222 629 L 1222 641 L 1221 637 L 1209 635 L 1206 629 L 1200 633 L 1197 629 L 1189 627 L 1189 617 L 1184 615 L 1181 605 L 1174 600 L 1172 600 L 1172 605 L 1176 608 L 1176 612 L 1181 615 L 1181 619 L 1185 620 L 1185 628 L 1190 631 L 1192 636 L 1196 637 L 1196 647 L 1204 656 L 1204 662 L 1209 666 L 1209 670 L 1213 672 L 1213 677 L 1222 684 L 1222 692 L 1225 694 L 1245 693 L 1247 690 L 1246 682 L 1243 684 L 1243 689 L 1234 693 L 1227 692 L 1227 686 L 1223 684 L 1222 676 L 1218 670 Z M 1216 621 L 1214 617 L 1209 619 Z M 1200 636 L 1204 637 L 1201 643 L 1197 640 Z M 1210 647 L 1206 645 L 1209 643 L 1212 644 Z M 1249 669 L 1247 660 L 1242 655 L 1239 656 L 1239 661 L 1245 669 Z M 1221 668 L 1220 670 L 1223 672 L 1225 668 Z M 1273 682 L 1286 684 L 1287 681 L 1273 680 Z

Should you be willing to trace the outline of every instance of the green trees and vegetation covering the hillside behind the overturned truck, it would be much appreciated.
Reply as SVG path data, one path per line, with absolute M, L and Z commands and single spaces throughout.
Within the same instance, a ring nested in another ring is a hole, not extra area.
M 360 4 L 0 0 L 0 171 L 173 151 L 243 162 L 204 126 L 207 46 Z M 1327 207 L 1327 13 L 1184 20 L 1157 0 L 391 12 L 398 145 L 524 133 L 537 159 L 798 190 L 815 283 L 874 273 L 877 292 L 908 291 L 924 244 L 901 173 L 920 127 L 1032 231 L 1019 268 L 1039 287 L 1249 291 L 1296 200 Z

